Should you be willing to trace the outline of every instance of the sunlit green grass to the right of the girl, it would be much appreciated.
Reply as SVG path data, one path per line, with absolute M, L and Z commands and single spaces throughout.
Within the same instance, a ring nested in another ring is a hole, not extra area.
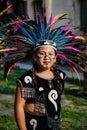
M 77 85 L 66 84 L 62 97 L 62 130 L 87 130 L 87 95 Z

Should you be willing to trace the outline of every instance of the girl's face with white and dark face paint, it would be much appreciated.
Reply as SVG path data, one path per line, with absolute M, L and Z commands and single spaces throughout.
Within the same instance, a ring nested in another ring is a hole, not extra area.
M 50 46 L 40 47 L 34 56 L 38 68 L 42 70 L 50 69 L 56 62 L 55 50 Z

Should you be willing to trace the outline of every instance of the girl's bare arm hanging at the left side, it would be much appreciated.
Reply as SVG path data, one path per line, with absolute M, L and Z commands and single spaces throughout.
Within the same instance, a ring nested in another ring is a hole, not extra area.
M 15 94 L 15 117 L 19 130 L 27 130 L 24 113 L 25 99 L 21 97 L 21 87 L 17 84 Z

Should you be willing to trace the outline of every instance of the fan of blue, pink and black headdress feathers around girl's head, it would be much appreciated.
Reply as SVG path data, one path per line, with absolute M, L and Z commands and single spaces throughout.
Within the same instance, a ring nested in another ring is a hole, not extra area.
M 85 43 L 80 42 L 84 38 L 72 35 L 68 24 L 57 25 L 57 21 L 64 17 L 65 14 L 59 14 L 51 17 L 48 23 L 43 16 L 39 17 L 38 23 L 18 17 L 17 20 L 0 26 L 0 53 L 5 53 L 0 63 L 5 63 L 5 77 L 16 62 L 23 61 L 26 56 L 31 57 L 35 47 L 42 43 L 40 41 L 49 41 L 50 45 L 56 43 L 58 58 L 66 61 L 76 73 L 77 67 L 85 71 L 87 55 L 81 50 L 81 45 L 85 46 Z

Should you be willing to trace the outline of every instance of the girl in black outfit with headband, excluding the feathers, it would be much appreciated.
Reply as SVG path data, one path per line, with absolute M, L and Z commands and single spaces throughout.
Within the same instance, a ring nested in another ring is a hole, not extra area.
M 56 52 L 55 42 L 38 42 L 32 70 L 17 80 L 15 116 L 19 130 L 60 130 L 65 74 L 56 66 Z

